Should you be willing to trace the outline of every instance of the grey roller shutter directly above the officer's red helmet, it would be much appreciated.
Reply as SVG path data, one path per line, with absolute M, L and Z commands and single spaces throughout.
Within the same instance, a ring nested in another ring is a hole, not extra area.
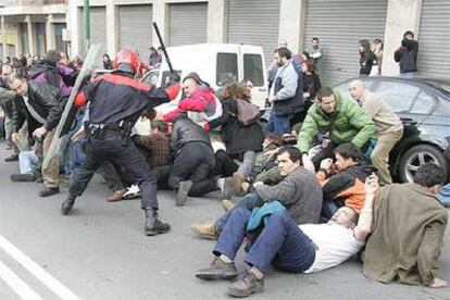
M 152 7 L 118 7 L 118 43 L 120 48 L 138 50 L 141 59 L 147 58 L 152 46 Z

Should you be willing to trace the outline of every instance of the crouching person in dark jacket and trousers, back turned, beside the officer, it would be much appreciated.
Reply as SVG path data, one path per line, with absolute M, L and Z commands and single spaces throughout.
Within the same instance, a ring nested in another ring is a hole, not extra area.
M 171 149 L 174 164 L 168 187 L 176 191 L 176 205 L 184 205 L 187 197 L 208 178 L 215 164 L 214 151 L 207 132 L 188 117 L 175 121 Z M 196 192 L 197 193 L 197 192 Z

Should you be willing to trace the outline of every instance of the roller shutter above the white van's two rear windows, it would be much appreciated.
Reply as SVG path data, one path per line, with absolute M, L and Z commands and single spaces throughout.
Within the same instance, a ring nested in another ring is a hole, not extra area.
M 271 64 L 278 45 L 278 0 L 229 0 L 228 42 L 261 46 Z

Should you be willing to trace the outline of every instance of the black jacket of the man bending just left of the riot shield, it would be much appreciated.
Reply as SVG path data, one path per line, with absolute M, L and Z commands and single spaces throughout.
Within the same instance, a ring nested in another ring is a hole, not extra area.
M 61 102 L 58 98 L 58 90 L 46 84 L 36 84 L 28 82 L 28 105 L 26 108 L 24 99 L 17 100 L 13 112 L 13 132 L 16 133 L 24 124 L 25 120 L 34 120 L 40 123 L 47 130 L 52 130 L 58 126 L 60 122 L 64 102 Z M 26 108 L 26 117 L 21 111 Z M 30 109 L 34 110 L 41 118 L 43 123 L 36 120 L 30 113 Z M 33 121 L 30 121 L 33 122 Z

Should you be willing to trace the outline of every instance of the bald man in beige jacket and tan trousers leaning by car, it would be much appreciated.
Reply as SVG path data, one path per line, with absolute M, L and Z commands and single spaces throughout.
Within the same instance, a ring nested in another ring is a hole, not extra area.
M 370 92 L 360 79 L 350 83 L 350 93 L 375 123 L 377 143 L 371 155 L 378 170 L 382 185 L 392 184 L 389 174 L 389 152 L 403 136 L 403 125 L 382 97 Z

